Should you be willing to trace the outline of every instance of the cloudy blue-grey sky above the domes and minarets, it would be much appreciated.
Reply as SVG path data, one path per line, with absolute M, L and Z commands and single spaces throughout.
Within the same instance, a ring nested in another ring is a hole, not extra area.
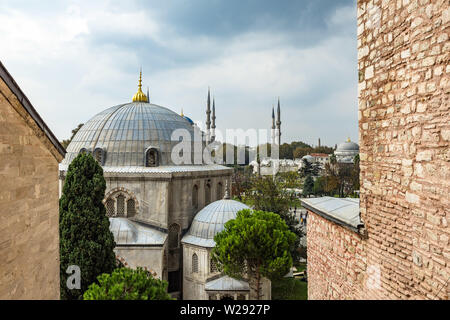
M 0 61 L 59 140 L 131 101 L 282 143 L 358 141 L 356 0 L 0 2 Z

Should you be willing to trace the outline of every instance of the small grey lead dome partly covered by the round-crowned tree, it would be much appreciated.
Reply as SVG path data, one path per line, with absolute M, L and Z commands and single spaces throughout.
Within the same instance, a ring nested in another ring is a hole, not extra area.
M 182 242 L 203 247 L 214 247 L 214 236 L 224 229 L 227 221 L 235 219 L 237 212 L 242 209 L 250 209 L 250 207 L 239 201 L 229 199 L 210 203 L 194 217 L 191 228 L 183 237 Z

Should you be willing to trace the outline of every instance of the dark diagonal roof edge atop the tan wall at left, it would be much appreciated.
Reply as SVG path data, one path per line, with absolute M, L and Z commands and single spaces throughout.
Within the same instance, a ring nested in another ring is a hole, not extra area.
M 44 120 L 42 120 L 39 113 L 31 104 L 30 100 L 28 100 L 27 96 L 20 89 L 19 85 L 14 81 L 13 77 L 9 74 L 8 70 L 6 70 L 5 66 L 0 61 L 0 78 L 6 83 L 8 88 L 14 93 L 17 97 L 17 100 L 20 101 L 23 108 L 28 112 L 28 114 L 33 118 L 36 122 L 37 126 L 44 132 L 45 136 L 50 140 L 56 150 L 64 157 L 66 154 L 66 150 L 59 143 L 58 139 L 55 137 L 53 132 L 47 127 Z

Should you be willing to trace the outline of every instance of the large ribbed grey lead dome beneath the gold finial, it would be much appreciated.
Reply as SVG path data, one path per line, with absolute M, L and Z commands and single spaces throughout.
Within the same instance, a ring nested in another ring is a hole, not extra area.
M 155 148 L 159 165 L 171 165 L 172 147 L 179 143 L 171 140 L 176 129 L 186 129 L 194 140 L 192 124 L 167 108 L 147 102 L 117 105 L 98 113 L 81 127 L 62 163 L 70 164 L 82 149 L 94 152 L 101 148 L 104 166 L 145 166 L 145 151 Z

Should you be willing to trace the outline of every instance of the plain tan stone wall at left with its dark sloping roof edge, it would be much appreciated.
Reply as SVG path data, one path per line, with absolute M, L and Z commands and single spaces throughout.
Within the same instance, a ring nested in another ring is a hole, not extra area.
M 0 299 L 59 299 L 64 153 L 0 63 Z

